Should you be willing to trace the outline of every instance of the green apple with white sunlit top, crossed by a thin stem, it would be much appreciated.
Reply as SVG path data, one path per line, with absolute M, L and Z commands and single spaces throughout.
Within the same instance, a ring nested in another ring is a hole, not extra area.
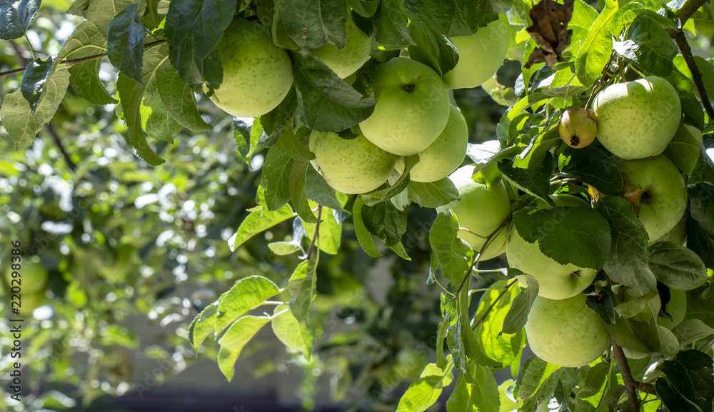
M 511 214 L 511 201 L 503 180 L 491 187 L 476 183 L 471 179 L 474 166 L 463 166 L 456 169 L 449 179 L 458 189 L 458 200 L 436 208 L 438 213 L 451 210 L 456 215 L 461 230 L 457 236 L 462 238 L 471 248 L 478 252 L 486 243 L 486 238 L 501 226 Z M 494 258 L 505 250 L 506 227 L 493 237 L 486 246 L 481 260 Z

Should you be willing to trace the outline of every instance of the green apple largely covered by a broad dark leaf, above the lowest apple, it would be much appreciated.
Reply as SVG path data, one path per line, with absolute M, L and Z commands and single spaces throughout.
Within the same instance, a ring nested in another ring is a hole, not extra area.
M 555 206 L 589 206 L 588 202 L 568 194 L 551 195 Z M 536 207 L 547 208 L 548 204 L 538 201 Z M 513 225 L 511 225 L 513 226 Z M 510 229 L 506 241 L 508 265 L 531 275 L 538 281 L 538 295 L 549 299 L 565 299 L 575 296 L 593 283 L 598 273 L 592 268 L 579 268 L 568 263 L 561 265 L 540 251 L 538 241 L 528 243 L 515 227 Z M 519 280 L 523 285 L 526 281 Z

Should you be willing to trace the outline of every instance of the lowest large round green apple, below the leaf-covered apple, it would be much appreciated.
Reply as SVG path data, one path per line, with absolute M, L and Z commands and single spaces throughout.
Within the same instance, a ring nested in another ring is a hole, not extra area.
M 566 368 L 595 361 L 610 346 L 605 323 L 582 293 L 553 300 L 536 296 L 526 321 L 528 345 L 538 358 Z

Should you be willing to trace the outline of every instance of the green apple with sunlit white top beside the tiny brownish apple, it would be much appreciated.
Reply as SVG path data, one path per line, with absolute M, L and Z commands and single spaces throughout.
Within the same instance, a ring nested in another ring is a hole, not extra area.
M 621 159 L 661 154 L 682 118 L 677 91 L 657 76 L 608 86 L 595 96 L 593 110 L 598 140 Z

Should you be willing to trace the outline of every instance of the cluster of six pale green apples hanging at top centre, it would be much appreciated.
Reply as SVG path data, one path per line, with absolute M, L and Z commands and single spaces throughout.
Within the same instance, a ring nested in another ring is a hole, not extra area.
M 367 119 L 353 128 L 356 137 L 330 131 L 311 131 L 313 167 L 327 183 L 346 194 L 377 189 L 392 174 L 405 171 L 404 156 L 418 155 L 409 171 L 412 181 L 432 182 L 451 174 L 464 159 L 468 127 L 453 106 L 449 89 L 475 87 L 496 73 L 506 57 L 510 39 L 506 15 L 471 36 L 455 36 L 460 60 L 443 76 L 428 49 L 411 46 L 408 56 L 378 64 L 373 90 L 376 105 Z M 372 39 L 346 22 L 346 46 L 325 44 L 309 50 L 341 79 L 370 59 Z M 418 41 L 418 31 L 411 30 Z M 210 99 L 228 114 L 261 116 L 275 109 L 293 85 L 290 54 L 276 46 L 256 21 L 236 18 L 217 46 L 223 63 L 223 83 Z M 493 59 L 483 61 L 488 54 Z M 478 61 L 478 64 L 474 64 Z M 208 91 L 208 89 L 206 89 Z

